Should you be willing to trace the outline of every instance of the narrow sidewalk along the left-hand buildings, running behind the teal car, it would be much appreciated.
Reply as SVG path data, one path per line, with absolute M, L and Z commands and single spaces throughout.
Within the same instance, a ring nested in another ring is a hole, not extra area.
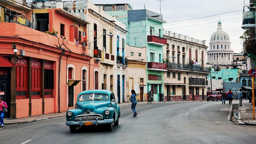
M 171 102 L 171 101 L 168 101 Z M 186 102 L 186 101 L 183 101 Z M 138 104 L 147 103 L 147 102 L 138 102 Z M 161 103 L 161 102 L 152 102 L 152 103 Z M 128 106 L 131 105 L 131 102 L 125 102 L 125 103 L 119 103 L 120 107 L 122 106 Z M 10 118 L 4 118 L 4 124 L 21 124 L 21 123 L 30 123 L 30 122 L 36 122 L 41 121 L 44 119 L 50 119 L 50 118 L 56 118 L 56 117 L 63 117 L 66 116 L 66 111 L 62 113 L 53 113 L 53 114 L 46 114 L 46 115 L 37 115 L 37 116 L 30 116 L 30 117 L 23 117 L 23 118 L 17 118 L 17 119 L 10 119 Z

